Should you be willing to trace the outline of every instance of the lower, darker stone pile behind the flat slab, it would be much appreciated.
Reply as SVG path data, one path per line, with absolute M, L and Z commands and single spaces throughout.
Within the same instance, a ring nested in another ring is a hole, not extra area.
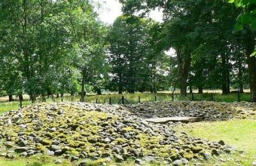
M 205 121 L 256 119 L 256 103 L 246 102 L 148 102 L 125 107 L 141 118 L 187 116 L 204 117 Z

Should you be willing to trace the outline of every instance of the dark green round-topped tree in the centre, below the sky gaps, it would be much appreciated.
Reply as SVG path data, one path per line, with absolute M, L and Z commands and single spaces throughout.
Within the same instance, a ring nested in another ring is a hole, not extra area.
M 136 16 L 118 17 L 109 32 L 109 63 L 112 66 L 112 82 L 118 93 L 127 90 L 134 93 L 145 68 L 144 50 L 147 46 L 145 20 Z M 145 36 L 144 36 L 145 35 Z

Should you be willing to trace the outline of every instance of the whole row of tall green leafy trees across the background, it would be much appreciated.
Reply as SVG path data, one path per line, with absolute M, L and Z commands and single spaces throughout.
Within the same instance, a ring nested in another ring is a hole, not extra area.
M 120 3 L 124 15 L 108 26 L 89 0 L 1 1 L 2 95 L 12 101 L 27 93 L 34 102 L 38 96 L 79 93 L 84 101 L 86 92 L 101 89 L 156 93 L 173 87 L 186 95 L 188 87 L 228 94 L 230 86 L 249 86 L 256 102 L 253 1 Z M 163 23 L 147 18 L 157 8 Z M 166 54 L 170 49 L 176 56 Z

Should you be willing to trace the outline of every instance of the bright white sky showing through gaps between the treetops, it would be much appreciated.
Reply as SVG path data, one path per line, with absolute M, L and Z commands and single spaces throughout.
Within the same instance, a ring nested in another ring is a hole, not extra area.
M 100 8 L 97 10 L 99 13 L 99 18 L 102 22 L 106 24 L 113 24 L 115 19 L 122 15 L 122 4 L 118 0 L 98 0 L 101 4 Z M 156 21 L 162 22 L 161 11 L 155 10 L 151 11 L 149 17 Z

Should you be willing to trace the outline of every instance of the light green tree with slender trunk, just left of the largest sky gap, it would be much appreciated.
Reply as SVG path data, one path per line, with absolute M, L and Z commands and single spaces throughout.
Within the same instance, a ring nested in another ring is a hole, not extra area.
M 72 32 L 72 64 L 81 73 L 81 101 L 84 102 L 86 84 L 99 86 L 99 80 L 106 77 L 106 27 L 97 20 L 97 13 L 90 1 L 67 1 L 69 28 Z M 104 37 L 105 36 L 105 37 Z M 98 85 L 97 85 L 98 84 Z

